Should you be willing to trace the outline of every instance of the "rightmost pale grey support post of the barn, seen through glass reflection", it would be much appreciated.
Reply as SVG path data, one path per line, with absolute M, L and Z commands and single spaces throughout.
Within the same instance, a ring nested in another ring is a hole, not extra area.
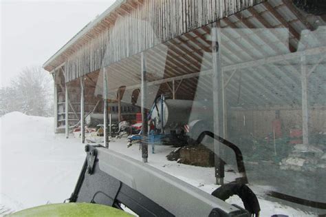
M 307 65 L 305 52 L 301 54 L 301 96 L 302 96 L 302 133 L 303 145 L 309 145 L 308 132 L 308 90 L 307 90 Z

